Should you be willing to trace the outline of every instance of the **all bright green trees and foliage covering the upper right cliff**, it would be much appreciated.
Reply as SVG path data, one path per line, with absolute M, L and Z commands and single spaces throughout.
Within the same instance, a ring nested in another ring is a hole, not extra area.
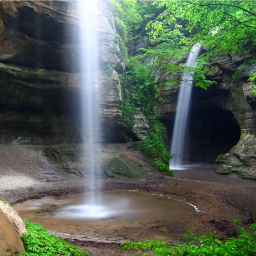
M 122 55 L 126 68 L 119 74 L 125 100 L 122 113 L 130 127 L 138 110 L 147 120 L 153 120 L 149 122 L 150 134 L 139 148 L 150 160 L 168 163 L 163 157 L 166 133 L 159 136 L 155 125 L 156 122 L 157 126 L 161 125 L 156 112 L 156 105 L 163 101 L 159 85 L 177 84 L 182 72 L 193 71 L 195 85 L 207 89 L 215 83 L 207 79 L 211 75 L 211 60 L 221 54 L 234 58 L 246 55 L 234 79 L 246 72 L 253 81 L 255 2 L 111 0 L 111 4 L 118 42 L 121 50 L 125 49 Z M 184 67 L 184 58 L 194 44 L 201 44 L 204 52 L 195 67 Z M 152 148 L 157 148 L 159 154 L 151 152 Z

